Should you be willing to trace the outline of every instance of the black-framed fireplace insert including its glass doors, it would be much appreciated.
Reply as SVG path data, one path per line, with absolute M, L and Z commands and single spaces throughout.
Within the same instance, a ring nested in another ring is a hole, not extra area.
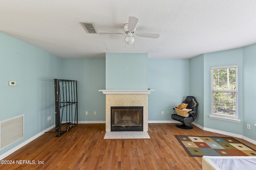
M 112 106 L 111 131 L 143 131 L 143 106 Z

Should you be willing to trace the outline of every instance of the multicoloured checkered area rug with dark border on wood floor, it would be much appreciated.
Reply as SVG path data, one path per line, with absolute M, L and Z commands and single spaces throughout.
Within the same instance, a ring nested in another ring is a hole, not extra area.
M 174 136 L 189 156 L 256 156 L 256 150 L 232 137 Z

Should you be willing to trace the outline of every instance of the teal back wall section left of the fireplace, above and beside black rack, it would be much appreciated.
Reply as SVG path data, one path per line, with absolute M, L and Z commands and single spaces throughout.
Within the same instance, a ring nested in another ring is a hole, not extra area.
M 61 59 L 62 79 L 77 80 L 78 121 L 105 121 L 105 59 Z M 88 115 L 85 112 L 88 111 Z M 94 115 L 96 111 L 96 115 Z

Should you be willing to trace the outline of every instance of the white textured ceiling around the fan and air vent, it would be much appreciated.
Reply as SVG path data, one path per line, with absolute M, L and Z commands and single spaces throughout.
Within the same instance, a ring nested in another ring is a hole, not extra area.
M 129 16 L 136 32 L 158 39 L 88 34 L 123 31 Z M 58 57 L 105 57 L 106 52 L 148 53 L 149 58 L 191 58 L 256 43 L 255 0 L 0 0 L 0 31 Z

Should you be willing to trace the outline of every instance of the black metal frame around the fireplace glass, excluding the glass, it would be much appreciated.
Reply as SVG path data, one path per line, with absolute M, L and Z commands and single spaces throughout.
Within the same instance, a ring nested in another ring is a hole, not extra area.
M 119 110 L 127 110 L 127 109 L 141 109 L 141 121 L 142 121 L 142 125 L 138 126 L 138 125 L 125 125 L 125 126 L 112 126 L 112 110 L 113 109 L 119 109 Z M 111 131 L 143 131 L 143 106 L 111 106 L 110 107 L 110 120 L 111 120 L 111 124 L 110 124 L 110 130 Z

